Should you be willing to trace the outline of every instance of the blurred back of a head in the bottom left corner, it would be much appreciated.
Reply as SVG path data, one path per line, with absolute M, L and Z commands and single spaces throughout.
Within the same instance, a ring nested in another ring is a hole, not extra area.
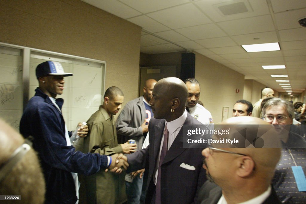
M 19 196 L 20 203 L 42 204 L 45 180 L 34 150 L 12 127 L 0 119 L 0 195 Z M 0 203 L 16 203 L 0 200 Z

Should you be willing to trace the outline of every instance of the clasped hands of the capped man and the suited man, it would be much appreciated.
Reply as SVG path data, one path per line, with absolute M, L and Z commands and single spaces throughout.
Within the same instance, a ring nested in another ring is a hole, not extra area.
M 124 154 L 113 154 L 110 157 L 112 161 L 110 166 L 105 170 L 106 172 L 110 170 L 110 172 L 121 174 L 123 170 L 127 170 L 129 167 L 128 159 Z

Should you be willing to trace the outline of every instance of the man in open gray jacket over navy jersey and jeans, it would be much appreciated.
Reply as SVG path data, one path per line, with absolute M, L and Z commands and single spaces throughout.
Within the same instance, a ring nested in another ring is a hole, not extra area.
M 140 150 L 148 132 L 148 122 L 153 117 L 149 101 L 156 84 L 155 79 L 148 79 L 144 87 L 144 95 L 125 104 L 116 122 L 118 142 L 125 143 L 129 139 L 136 141 L 137 150 Z M 134 179 L 131 175 L 125 176 L 128 204 L 139 204 L 142 190 L 142 174 Z

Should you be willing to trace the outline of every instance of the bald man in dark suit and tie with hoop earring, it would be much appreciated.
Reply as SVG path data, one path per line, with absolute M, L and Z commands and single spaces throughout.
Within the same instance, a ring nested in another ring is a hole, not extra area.
M 187 98 L 188 89 L 178 78 L 155 84 L 150 100 L 154 113 L 149 122 L 150 145 L 128 155 L 128 171 L 148 170 L 145 203 L 193 203 L 197 187 L 205 180 L 203 148 L 183 148 L 183 124 L 201 125 L 185 110 Z

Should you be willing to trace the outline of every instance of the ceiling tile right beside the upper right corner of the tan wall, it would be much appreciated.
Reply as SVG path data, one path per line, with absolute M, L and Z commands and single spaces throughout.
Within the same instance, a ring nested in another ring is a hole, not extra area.
M 161 32 L 165 30 L 170 30 L 170 28 L 162 25 L 161 23 L 156 22 L 155 20 L 149 18 L 148 16 L 137 16 L 134 18 L 128 19 L 128 21 L 135 23 L 143 27 L 145 30 L 150 31 L 151 33 Z

